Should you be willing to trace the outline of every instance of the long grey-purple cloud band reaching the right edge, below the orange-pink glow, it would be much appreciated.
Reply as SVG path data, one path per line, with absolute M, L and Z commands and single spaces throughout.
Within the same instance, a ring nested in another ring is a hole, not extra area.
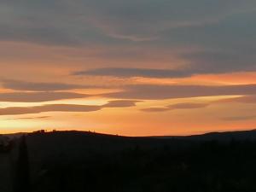
M 102 96 L 119 99 L 160 100 L 198 96 L 239 96 L 256 94 L 256 84 L 238 85 L 148 85 L 126 86 L 124 90 Z

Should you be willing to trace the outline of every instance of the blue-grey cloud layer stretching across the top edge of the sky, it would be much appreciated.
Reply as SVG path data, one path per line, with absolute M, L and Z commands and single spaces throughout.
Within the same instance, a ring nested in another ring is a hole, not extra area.
M 79 44 L 95 39 L 101 30 L 112 38 L 148 40 L 158 37 L 166 28 L 212 23 L 226 15 L 252 10 L 253 6 L 255 3 L 250 0 L 2 1 L 0 38 Z

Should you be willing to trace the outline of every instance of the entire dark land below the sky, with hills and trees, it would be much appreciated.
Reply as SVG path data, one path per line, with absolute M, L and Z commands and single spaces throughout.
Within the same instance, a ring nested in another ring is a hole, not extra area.
M 117 137 L 44 131 L 0 143 L 2 192 L 253 192 L 256 131 Z

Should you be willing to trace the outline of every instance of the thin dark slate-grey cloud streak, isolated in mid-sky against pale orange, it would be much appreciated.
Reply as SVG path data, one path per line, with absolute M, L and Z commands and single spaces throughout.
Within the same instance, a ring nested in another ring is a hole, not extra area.
M 190 76 L 189 73 L 178 70 L 117 67 L 90 69 L 87 71 L 75 72 L 73 75 L 113 76 L 119 78 L 181 78 Z

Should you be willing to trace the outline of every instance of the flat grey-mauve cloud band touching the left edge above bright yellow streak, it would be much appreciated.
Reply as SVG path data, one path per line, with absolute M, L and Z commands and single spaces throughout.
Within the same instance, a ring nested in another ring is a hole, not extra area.
M 11 92 L 0 93 L 0 102 L 49 102 L 87 96 L 90 95 L 72 92 Z

